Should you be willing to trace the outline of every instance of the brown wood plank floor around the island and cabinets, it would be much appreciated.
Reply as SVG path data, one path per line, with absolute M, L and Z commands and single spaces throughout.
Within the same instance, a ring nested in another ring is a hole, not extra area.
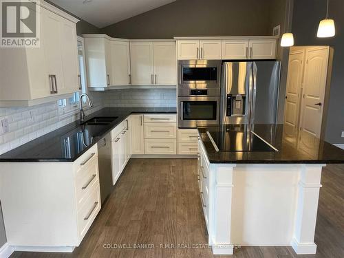
M 290 247 L 242 247 L 228 256 L 214 256 L 204 248 L 207 236 L 196 166 L 196 160 L 132 159 L 72 254 L 14 252 L 11 257 L 344 257 L 344 165 L 328 165 L 323 171 L 316 255 L 296 255 Z M 178 243 L 201 248 L 160 246 Z M 116 244 L 127 244 L 127 248 L 115 248 Z M 154 244 L 155 248 L 128 248 L 133 244 Z

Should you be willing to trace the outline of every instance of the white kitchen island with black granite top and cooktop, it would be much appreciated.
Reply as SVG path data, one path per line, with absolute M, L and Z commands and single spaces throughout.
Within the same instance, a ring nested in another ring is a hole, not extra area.
M 213 253 L 235 246 L 292 246 L 316 253 L 314 231 L 325 164 L 344 151 L 308 136 L 290 142 L 283 125 L 201 127 L 198 182 Z

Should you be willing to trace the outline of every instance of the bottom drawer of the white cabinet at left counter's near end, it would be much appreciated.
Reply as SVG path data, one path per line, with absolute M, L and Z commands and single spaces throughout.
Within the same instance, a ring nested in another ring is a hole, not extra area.
M 80 211 L 78 211 L 77 219 L 79 241 L 81 241 L 87 233 L 87 230 L 92 225 L 92 222 L 94 221 L 96 215 L 100 211 L 100 208 L 100 190 L 99 184 L 97 184 L 92 188 L 91 194 L 83 203 L 83 206 L 80 208 Z

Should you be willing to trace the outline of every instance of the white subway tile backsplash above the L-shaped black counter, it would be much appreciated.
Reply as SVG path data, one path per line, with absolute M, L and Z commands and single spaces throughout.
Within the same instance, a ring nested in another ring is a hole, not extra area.
M 117 89 L 91 92 L 92 109 L 86 115 L 103 107 L 175 107 L 175 89 Z M 78 120 L 78 112 L 61 115 L 56 101 L 33 107 L 0 107 L 0 120 L 8 119 L 9 131 L 0 135 L 0 155 L 30 140 Z

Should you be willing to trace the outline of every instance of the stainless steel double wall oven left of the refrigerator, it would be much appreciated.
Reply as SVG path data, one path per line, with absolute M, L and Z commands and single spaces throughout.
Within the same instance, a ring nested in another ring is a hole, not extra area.
M 178 61 L 178 127 L 219 124 L 221 61 Z

